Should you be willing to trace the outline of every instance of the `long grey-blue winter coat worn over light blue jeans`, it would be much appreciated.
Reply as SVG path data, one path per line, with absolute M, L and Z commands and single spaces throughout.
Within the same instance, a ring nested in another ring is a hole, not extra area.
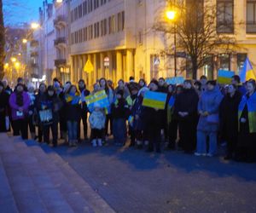
M 223 99 L 218 86 L 212 90 L 202 93 L 198 103 L 198 112 L 208 112 L 209 115 L 218 114 L 219 105 Z M 207 121 L 207 116 L 200 116 L 197 130 L 206 132 L 218 131 L 218 124 L 212 124 Z

